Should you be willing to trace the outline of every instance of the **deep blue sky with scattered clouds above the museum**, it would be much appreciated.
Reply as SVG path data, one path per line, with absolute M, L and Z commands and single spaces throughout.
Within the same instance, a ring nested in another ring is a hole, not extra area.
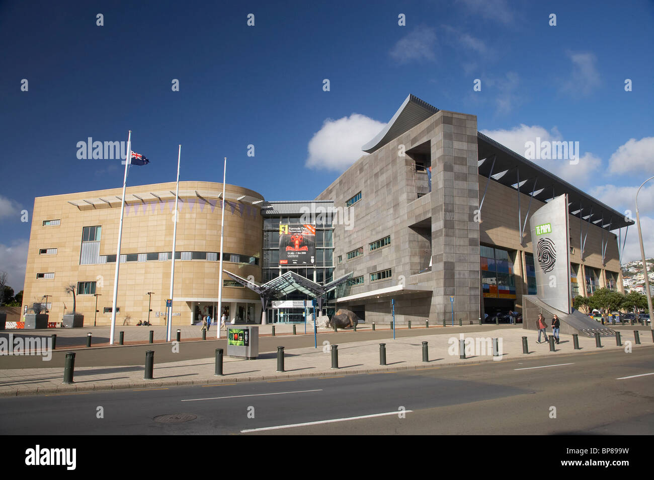
M 540 164 L 619 211 L 654 175 L 651 1 L 134 4 L 0 3 L 0 269 L 17 291 L 20 211 L 35 196 L 120 186 L 120 161 L 79 160 L 77 143 L 129 129 L 152 162 L 129 185 L 174 180 L 181 144 L 181 180 L 220 181 L 226 156 L 228 183 L 311 199 L 411 93 L 476 114 L 519 153 L 535 136 L 579 141 L 579 165 Z M 639 196 L 648 256 L 651 184 Z M 625 260 L 639 254 L 627 244 Z

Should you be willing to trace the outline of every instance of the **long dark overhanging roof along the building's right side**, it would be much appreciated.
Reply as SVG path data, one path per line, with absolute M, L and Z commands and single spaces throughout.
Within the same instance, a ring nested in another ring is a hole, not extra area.
M 581 216 L 583 220 L 605 230 L 616 230 L 634 224 L 631 220 L 625 220 L 625 214 L 612 209 L 598 199 L 582 192 L 579 188 L 549 173 L 543 167 L 530 162 L 525 157 L 479 132 L 477 132 L 477 149 L 479 175 L 487 178 L 491 175 L 492 180 L 519 189 L 525 195 L 530 196 L 533 191 L 533 197 L 543 202 L 547 202 L 555 196 L 568 194 L 570 214 Z M 520 180 L 519 186 L 517 185 L 518 179 Z M 535 190 L 534 180 L 536 181 Z M 483 187 L 479 188 L 481 190 Z

